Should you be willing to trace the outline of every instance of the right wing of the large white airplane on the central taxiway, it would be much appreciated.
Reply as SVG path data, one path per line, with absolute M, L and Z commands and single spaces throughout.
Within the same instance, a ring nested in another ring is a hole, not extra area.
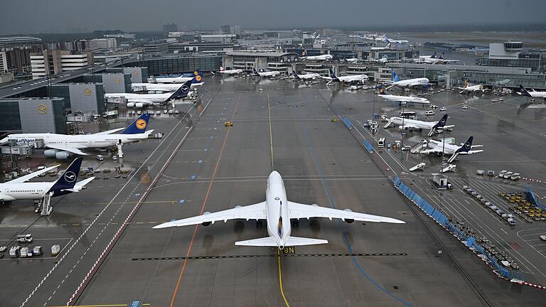
M 395 224 L 405 224 L 405 222 L 393 219 L 391 217 L 368 215 L 364 213 L 352 212 L 350 210 L 324 208 L 320 207 L 319 205 L 304 205 L 291 201 L 288 202 L 288 210 L 290 218 L 309 219 L 311 217 L 327 217 L 330 220 L 333 218 L 339 218 L 342 220 L 358 220 L 362 222 L 390 222 Z

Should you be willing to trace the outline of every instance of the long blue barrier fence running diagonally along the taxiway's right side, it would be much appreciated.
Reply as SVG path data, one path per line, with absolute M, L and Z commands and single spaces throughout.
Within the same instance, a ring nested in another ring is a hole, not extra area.
M 514 279 L 518 281 L 523 281 L 523 274 L 518 271 L 511 271 L 509 269 L 506 269 L 504 266 L 501 266 L 501 264 L 498 263 L 497 259 L 495 259 L 493 255 L 487 252 L 485 248 L 483 248 L 480 244 L 478 244 L 478 242 L 476 242 L 476 238 L 467 236 L 454 223 L 449 222 L 449 218 L 446 217 L 446 215 L 444 215 L 441 210 L 434 208 L 434 206 L 427 203 L 427 200 L 424 200 L 421 196 L 417 195 L 417 193 L 415 193 L 410 187 L 405 185 L 405 183 L 403 183 L 398 176 L 395 176 L 392 182 L 395 183 L 395 188 L 397 188 L 400 193 L 404 194 L 407 198 L 409 198 L 412 203 L 414 203 L 415 205 L 417 205 L 417 207 L 427 213 L 429 217 L 432 217 L 432 219 L 435 220 L 439 225 L 441 225 L 441 227 L 444 227 L 444 229 L 451 232 L 452 235 L 459 239 L 459 241 L 466 244 L 466 246 L 469 247 L 469 249 L 471 249 L 473 252 L 478 255 L 483 255 L 484 257 L 480 258 L 488 262 L 489 266 L 491 266 L 493 271 L 498 274 L 498 276 L 501 276 L 504 279 L 508 280 Z

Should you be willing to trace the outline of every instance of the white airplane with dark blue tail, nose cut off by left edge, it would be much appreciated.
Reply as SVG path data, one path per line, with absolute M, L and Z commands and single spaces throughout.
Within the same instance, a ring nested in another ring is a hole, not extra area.
M 50 193 L 50 197 L 55 197 L 80 192 L 85 189 L 87 183 L 95 179 L 95 177 L 91 177 L 77 183 L 80 166 L 82 166 L 82 158 L 75 158 L 56 181 L 26 182 L 54 168 L 58 168 L 58 165 L 43 168 L 40 171 L 29 173 L 6 183 L 0 183 L 0 201 L 41 200 L 48 193 Z

